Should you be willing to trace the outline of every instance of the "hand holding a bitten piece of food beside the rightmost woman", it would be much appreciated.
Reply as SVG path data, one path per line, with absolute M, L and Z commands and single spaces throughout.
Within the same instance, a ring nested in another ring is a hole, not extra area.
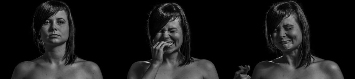
M 247 75 L 248 71 L 250 70 L 250 66 L 238 66 L 239 71 L 235 72 L 233 79 L 250 79 L 251 77 Z

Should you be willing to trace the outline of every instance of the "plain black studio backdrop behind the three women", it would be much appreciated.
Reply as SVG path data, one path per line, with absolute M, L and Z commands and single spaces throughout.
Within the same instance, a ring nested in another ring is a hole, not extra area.
M 5 1 L 2 4 L 2 77 L 10 78 L 15 66 L 40 56 L 33 43 L 31 24 L 35 8 L 44 1 Z M 64 1 L 76 27 L 76 55 L 97 63 L 104 78 L 125 79 L 136 61 L 152 59 L 148 44 L 147 13 L 154 5 L 176 2 L 185 11 L 192 35 L 192 57 L 215 65 L 220 79 L 232 79 L 239 65 L 275 59 L 264 37 L 266 11 L 278 1 Z M 353 62 L 345 1 L 298 1 L 310 24 L 311 49 L 332 60 L 350 76 Z M 4 67 L 5 66 L 5 67 Z

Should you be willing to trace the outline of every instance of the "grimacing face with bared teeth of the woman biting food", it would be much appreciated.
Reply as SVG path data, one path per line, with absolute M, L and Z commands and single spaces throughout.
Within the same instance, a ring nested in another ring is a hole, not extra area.
M 162 29 L 160 29 L 154 38 L 154 43 L 157 43 L 158 41 L 165 41 L 171 46 L 169 48 L 164 48 L 166 54 L 174 51 L 180 51 L 180 47 L 183 42 L 180 19 L 177 18 L 174 21 L 170 21 Z

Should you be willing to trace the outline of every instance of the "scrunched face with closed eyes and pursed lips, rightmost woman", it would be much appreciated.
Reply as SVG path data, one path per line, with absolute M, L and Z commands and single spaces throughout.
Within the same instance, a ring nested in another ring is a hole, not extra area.
M 274 45 L 283 52 L 299 48 L 302 42 L 300 26 L 292 14 L 283 19 L 271 35 Z

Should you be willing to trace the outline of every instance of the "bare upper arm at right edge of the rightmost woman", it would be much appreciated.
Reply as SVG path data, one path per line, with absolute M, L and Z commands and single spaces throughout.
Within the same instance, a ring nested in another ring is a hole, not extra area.
M 332 79 L 344 79 L 343 73 L 337 63 L 334 61 L 326 60 L 323 61 L 323 65 L 326 66 L 326 72 L 331 76 Z

